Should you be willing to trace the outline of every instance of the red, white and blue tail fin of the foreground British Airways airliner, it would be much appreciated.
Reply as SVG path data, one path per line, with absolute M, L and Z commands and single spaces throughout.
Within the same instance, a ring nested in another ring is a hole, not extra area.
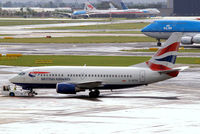
M 178 55 L 182 33 L 173 33 L 156 54 L 146 62 L 154 71 L 170 70 Z

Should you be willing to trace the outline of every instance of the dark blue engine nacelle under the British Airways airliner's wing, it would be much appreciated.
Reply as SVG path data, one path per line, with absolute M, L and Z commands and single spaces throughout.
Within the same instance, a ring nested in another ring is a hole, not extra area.
M 58 83 L 56 91 L 60 94 L 76 94 L 77 88 L 74 84 Z

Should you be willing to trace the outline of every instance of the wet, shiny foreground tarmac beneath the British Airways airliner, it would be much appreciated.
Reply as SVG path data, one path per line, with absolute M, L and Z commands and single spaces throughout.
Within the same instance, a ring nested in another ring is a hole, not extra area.
M 22 69 L 1 66 L 0 85 Z M 97 99 L 53 89 L 37 90 L 34 98 L 0 96 L 0 132 L 199 134 L 199 72 L 192 68 L 149 86 L 103 91 Z

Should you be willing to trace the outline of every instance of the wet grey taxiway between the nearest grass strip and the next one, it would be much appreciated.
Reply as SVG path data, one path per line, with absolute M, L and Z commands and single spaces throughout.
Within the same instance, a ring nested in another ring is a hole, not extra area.
M 48 46 L 48 47 L 47 47 Z M 106 55 L 106 56 L 152 56 L 154 52 L 127 52 L 140 48 L 157 47 L 155 42 L 146 43 L 86 43 L 86 44 L 41 44 L 0 43 L 0 53 L 21 53 L 24 55 Z M 200 48 L 200 46 L 188 46 Z M 200 57 L 200 53 L 179 53 L 179 56 Z

